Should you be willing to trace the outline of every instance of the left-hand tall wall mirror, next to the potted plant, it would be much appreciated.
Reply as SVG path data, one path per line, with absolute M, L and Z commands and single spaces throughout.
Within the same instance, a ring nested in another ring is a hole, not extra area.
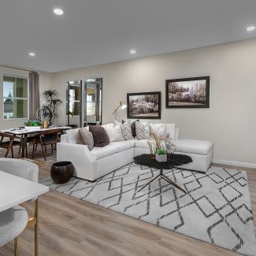
M 66 84 L 66 117 L 67 124 L 73 127 L 82 126 L 82 80 L 69 81 Z

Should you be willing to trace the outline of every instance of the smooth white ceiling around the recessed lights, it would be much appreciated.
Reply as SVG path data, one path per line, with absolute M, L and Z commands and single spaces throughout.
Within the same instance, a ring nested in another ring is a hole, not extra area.
M 256 0 L 1 0 L 0 64 L 57 72 L 250 39 L 255 13 Z

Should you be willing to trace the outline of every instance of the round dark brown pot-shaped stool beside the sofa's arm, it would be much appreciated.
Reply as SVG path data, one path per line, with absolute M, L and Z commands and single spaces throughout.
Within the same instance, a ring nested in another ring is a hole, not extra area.
M 71 179 L 74 171 L 75 167 L 71 161 L 58 161 L 51 166 L 50 176 L 54 183 L 65 184 Z

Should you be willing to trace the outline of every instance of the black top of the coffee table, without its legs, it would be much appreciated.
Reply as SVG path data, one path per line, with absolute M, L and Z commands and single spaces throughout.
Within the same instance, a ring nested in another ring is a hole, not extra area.
M 176 165 L 184 165 L 192 162 L 192 158 L 186 154 L 167 154 L 167 161 L 158 162 L 150 158 L 150 154 L 140 154 L 133 158 L 136 164 L 147 165 L 155 169 L 172 169 Z

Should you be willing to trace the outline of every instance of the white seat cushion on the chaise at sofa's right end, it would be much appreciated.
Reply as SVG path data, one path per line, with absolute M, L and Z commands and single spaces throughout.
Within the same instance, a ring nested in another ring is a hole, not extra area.
M 177 152 L 191 154 L 208 154 L 213 147 L 213 142 L 198 139 L 173 139 L 172 143 L 176 145 Z

